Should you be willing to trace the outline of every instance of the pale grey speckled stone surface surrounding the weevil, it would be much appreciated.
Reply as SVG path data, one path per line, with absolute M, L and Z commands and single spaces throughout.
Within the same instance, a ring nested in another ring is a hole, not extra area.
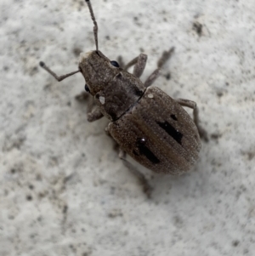
M 82 0 L 0 3 L 1 256 L 253 256 L 255 2 L 94 0 L 111 60 L 148 54 L 143 81 L 175 47 L 155 85 L 194 100 L 209 142 L 179 177 L 139 167 L 148 200 L 105 135 L 89 123 L 81 51 L 94 49 Z M 189 113 L 191 111 L 189 110 Z

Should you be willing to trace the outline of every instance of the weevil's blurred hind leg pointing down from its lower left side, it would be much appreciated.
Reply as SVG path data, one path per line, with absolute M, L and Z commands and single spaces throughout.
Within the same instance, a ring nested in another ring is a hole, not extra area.
M 122 159 L 122 162 L 128 168 L 128 170 L 130 170 L 139 179 L 139 182 L 141 183 L 141 185 L 143 185 L 144 193 L 146 194 L 146 196 L 148 196 L 148 198 L 150 198 L 152 187 L 148 183 L 148 180 L 145 178 L 144 174 L 139 172 L 139 170 L 135 168 L 132 163 L 127 161 L 126 152 L 122 151 L 121 148 L 119 148 L 119 157 Z

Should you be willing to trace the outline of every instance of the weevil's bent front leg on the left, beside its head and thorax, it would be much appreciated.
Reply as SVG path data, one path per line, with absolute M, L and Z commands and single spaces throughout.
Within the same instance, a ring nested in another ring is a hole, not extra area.
M 104 115 L 99 110 L 99 107 L 95 105 L 94 97 L 87 92 L 82 92 L 82 94 L 79 94 L 76 96 L 77 100 L 83 101 L 87 100 L 88 98 L 88 107 L 87 107 L 87 118 L 88 122 L 94 122 L 96 120 L 99 120 L 101 117 L 104 117 Z

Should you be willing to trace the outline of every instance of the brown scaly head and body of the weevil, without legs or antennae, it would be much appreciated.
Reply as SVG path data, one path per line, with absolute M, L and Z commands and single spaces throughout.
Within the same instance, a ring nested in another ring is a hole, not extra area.
M 198 158 L 201 141 L 195 123 L 160 88 L 145 88 L 138 77 L 100 51 L 81 54 L 80 68 L 108 131 L 123 151 L 156 173 L 182 174 Z M 102 66 L 107 76 L 100 76 Z

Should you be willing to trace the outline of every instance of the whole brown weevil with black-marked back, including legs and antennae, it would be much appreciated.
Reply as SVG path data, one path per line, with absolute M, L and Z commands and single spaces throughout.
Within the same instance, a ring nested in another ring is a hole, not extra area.
M 127 162 L 126 153 L 144 167 L 160 174 L 184 174 L 195 164 L 201 151 L 201 137 L 207 134 L 199 125 L 198 109 L 194 101 L 173 100 L 160 88 L 153 87 L 160 68 L 173 54 L 165 51 L 157 63 L 156 71 L 141 82 L 147 55 L 139 54 L 127 65 L 109 60 L 99 51 L 98 25 L 89 0 L 85 0 L 94 22 L 96 49 L 80 55 L 77 71 L 57 76 L 42 61 L 40 65 L 58 81 L 78 72 L 85 78 L 85 91 L 78 99 L 90 96 L 88 121 L 107 117 L 105 129 L 120 147 L 120 158 L 127 168 L 139 176 L 144 191 L 150 195 L 150 185 L 137 168 Z M 127 69 L 133 65 L 133 74 Z M 96 107 L 94 108 L 94 105 Z M 193 110 L 194 120 L 184 111 Z

